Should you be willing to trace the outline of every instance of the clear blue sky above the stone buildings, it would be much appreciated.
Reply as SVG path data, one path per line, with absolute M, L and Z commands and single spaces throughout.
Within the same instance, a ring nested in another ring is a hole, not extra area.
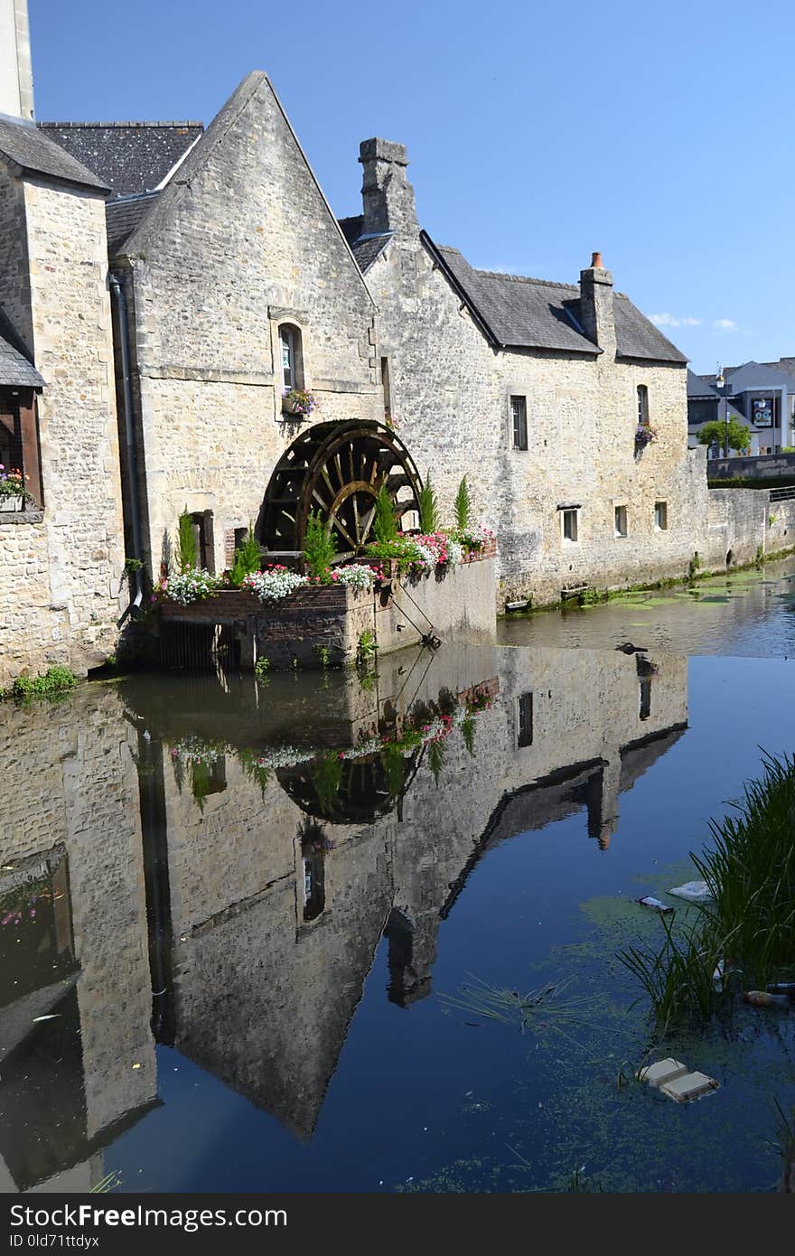
M 696 371 L 795 354 L 795 5 L 29 0 L 36 117 L 210 122 L 268 70 L 338 215 L 407 144 L 476 265 L 615 286 Z

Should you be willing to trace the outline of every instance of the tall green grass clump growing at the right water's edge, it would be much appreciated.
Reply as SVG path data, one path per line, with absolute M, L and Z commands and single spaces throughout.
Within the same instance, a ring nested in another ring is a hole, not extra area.
M 735 811 L 710 823 L 710 850 L 691 854 L 712 896 L 696 923 L 663 917 L 659 950 L 618 953 L 663 1034 L 705 1022 L 740 985 L 764 988 L 795 971 L 795 757 L 765 755 L 761 779 L 744 786 Z

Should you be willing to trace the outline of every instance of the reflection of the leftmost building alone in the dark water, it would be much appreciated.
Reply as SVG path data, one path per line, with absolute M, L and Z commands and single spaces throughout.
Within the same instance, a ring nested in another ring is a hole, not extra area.
M 117 695 L 92 688 L 0 718 L 5 1191 L 88 1189 L 102 1148 L 157 1094 L 138 777 L 121 717 Z

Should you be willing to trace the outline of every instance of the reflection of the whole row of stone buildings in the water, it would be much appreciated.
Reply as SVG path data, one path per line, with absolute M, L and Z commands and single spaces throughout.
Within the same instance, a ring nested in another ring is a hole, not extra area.
M 310 1139 L 381 938 L 411 1009 L 486 852 L 578 811 L 607 850 L 686 726 L 684 657 L 487 646 L 4 711 L 5 1188 L 113 1168 L 156 1044 Z

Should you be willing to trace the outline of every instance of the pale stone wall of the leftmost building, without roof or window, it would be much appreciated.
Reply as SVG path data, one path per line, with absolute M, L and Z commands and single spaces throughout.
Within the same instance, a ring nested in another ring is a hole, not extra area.
M 8 172 L 4 188 L 3 212 Z M 34 178 L 13 192 L 3 237 L 25 255 L 28 284 L 19 260 L 0 280 L 0 304 L 25 338 L 29 328 L 45 381 L 44 515 L 0 516 L 0 685 L 51 663 L 83 674 L 100 663 L 116 644 L 124 563 L 104 202 Z

